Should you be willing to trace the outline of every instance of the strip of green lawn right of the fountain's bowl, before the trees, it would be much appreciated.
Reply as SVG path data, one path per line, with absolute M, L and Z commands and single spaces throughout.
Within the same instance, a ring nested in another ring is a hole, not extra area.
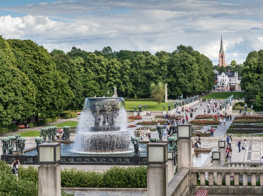
M 163 111 L 163 105 L 165 105 L 165 110 L 168 111 L 168 103 L 160 103 L 158 108 L 158 103 L 153 101 L 126 101 L 125 102 L 125 109 L 126 110 L 134 110 L 134 105 L 136 106 L 136 111 L 139 111 L 139 104 L 141 104 L 141 110 L 144 110 L 143 105 L 147 105 L 147 110 L 151 111 Z M 171 103 L 171 110 L 172 110 L 172 103 Z

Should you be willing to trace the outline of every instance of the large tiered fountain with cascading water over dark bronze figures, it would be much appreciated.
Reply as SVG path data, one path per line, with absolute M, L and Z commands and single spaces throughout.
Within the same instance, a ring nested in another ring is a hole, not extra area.
M 122 97 L 86 98 L 80 115 L 74 150 L 83 153 L 115 153 L 130 149 L 132 132 Z

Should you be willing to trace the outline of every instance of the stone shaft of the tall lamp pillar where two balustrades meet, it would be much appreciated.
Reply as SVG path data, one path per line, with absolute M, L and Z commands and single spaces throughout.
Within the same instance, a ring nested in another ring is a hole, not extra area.
M 179 139 L 177 141 L 177 167 L 178 170 L 181 168 L 187 168 L 192 172 L 192 140 L 191 139 Z M 192 189 L 192 175 L 188 175 L 188 187 Z

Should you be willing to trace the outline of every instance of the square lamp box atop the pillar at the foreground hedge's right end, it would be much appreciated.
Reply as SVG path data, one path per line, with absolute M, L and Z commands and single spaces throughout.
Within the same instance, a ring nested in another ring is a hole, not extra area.
M 165 164 L 168 160 L 168 143 L 148 143 L 147 163 Z

